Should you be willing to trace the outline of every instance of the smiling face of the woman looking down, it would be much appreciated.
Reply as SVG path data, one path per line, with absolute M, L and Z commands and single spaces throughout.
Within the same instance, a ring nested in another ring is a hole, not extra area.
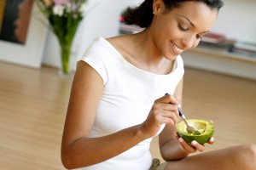
M 217 10 L 211 10 L 199 2 L 185 2 L 168 13 L 164 11 L 162 1 L 155 0 L 150 30 L 160 54 L 171 60 L 184 50 L 195 48 L 218 15 Z

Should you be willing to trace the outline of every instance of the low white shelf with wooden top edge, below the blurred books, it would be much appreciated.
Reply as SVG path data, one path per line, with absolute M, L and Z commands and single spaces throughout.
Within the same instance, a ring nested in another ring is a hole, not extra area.
M 193 48 L 182 57 L 185 66 L 256 80 L 256 56 Z

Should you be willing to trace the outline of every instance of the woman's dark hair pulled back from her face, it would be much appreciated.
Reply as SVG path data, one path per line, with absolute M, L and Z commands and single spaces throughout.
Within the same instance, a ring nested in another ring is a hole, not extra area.
M 128 7 L 125 9 L 124 20 L 128 25 L 135 24 L 142 28 L 150 26 L 154 14 L 153 14 L 153 1 L 145 0 L 139 6 L 135 8 Z M 184 2 L 196 1 L 205 3 L 208 8 L 212 10 L 219 10 L 224 5 L 222 0 L 162 0 L 166 6 L 166 11 L 169 12 L 172 8 L 178 8 Z

